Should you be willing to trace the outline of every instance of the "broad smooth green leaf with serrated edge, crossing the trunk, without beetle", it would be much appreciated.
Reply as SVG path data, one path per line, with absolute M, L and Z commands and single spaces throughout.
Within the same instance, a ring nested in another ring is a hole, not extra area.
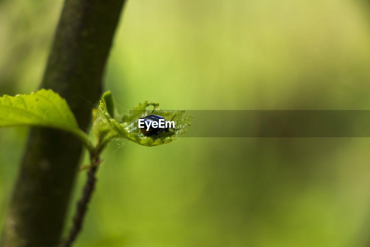
M 72 132 L 91 148 L 65 99 L 51 89 L 0 97 L 0 127 L 34 125 Z

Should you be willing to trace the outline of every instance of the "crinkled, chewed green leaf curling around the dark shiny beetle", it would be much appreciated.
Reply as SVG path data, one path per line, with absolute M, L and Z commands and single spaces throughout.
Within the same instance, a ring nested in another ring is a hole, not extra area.
M 148 106 L 154 106 L 153 110 L 147 110 Z M 95 133 L 101 145 L 105 145 L 112 138 L 125 138 L 137 144 L 144 146 L 157 146 L 169 143 L 175 140 L 179 135 L 185 133 L 186 129 L 193 118 L 191 115 L 185 114 L 185 111 L 166 112 L 158 108 L 159 104 L 145 101 L 134 107 L 134 111 L 130 111 L 130 115 L 124 116 L 123 123 L 117 122 L 107 109 L 107 104 L 104 98 L 100 101 L 100 113 L 95 112 Z M 147 115 L 156 114 L 164 117 L 166 121 L 174 121 L 175 128 L 169 132 L 161 132 L 159 138 L 154 136 L 144 136 L 138 128 L 138 119 L 144 118 Z

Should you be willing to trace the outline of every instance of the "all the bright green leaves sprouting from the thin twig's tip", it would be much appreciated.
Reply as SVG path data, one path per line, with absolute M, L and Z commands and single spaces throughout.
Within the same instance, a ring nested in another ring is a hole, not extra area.
M 147 106 L 154 106 L 149 113 Z M 41 89 L 30 95 L 0 97 L 0 127 L 34 125 L 57 128 L 72 132 L 81 138 L 90 151 L 100 152 L 113 138 L 125 138 L 144 146 L 157 146 L 169 143 L 185 133 L 193 118 L 185 111 L 165 112 L 158 108 L 158 103 L 145 101 L 134 107 L 129 115 L 124 116 L 122 123 L 114 119 L 114 101 L 110 91 L 103 93 L 99 108 L 92 110 L 93 131 L 97 136 L 96 147 L 93 147 L 85 132 L 76 121 L 73 112 L 65 99 L 48 89 Z M 138 128 L 138 118 L 149 114 L 163 116 L 166 121 L 174 121 L 176 129 L 162 132 L 158 138 L 144 136 Z

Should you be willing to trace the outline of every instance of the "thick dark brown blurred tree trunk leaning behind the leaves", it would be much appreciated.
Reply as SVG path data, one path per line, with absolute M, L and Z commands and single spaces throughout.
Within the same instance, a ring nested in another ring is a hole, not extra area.
M 41 88 L 65 98 L 86 129 L 125 0 L 66 0 Z M 54 246 L 63 230 L 82 144 L 71 134 L 32 128 L 1 246 Z

